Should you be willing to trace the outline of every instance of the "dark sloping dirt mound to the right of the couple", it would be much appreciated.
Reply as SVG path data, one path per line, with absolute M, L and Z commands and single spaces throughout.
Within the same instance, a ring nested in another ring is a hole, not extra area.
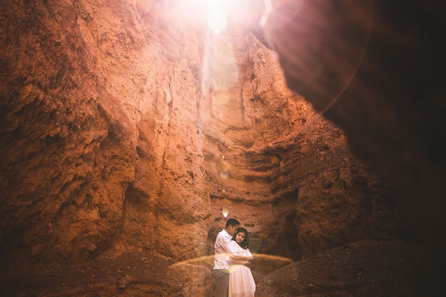
M 352 243 L 280 268 L 257 284 L 256 297 L 442 296 L 425 252 L 403 242 Z M 433 277 L 420 279 L 426 274 Z

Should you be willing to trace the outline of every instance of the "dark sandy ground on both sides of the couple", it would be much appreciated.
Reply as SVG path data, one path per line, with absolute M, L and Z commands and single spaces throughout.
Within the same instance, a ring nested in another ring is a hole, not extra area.
M 283 260 L 258 256 L 252 265 L 256 297 L 442 296 L 441 274 L 428 264 L 427 256 L 423 247 L 394 241 L 357 242 L 288 265 Z M 212 292 L 207 270 L 212 268 L 211 263 L 212 256 L 175 264 L 150 254 L 126 253 L 82 265 L 3 274 L 1 289 L 2 296 L 21 297 L 208 296 Z M 184 269 L 175 272 L 172 264 Z M 199 271 L 204 271 L 203 280 Z M 184 274 L 198 279 L 181 283 Z M 193 287 L 193 282 L 195 289 L 186 290 Z M 197 284 L 206 288 L 197 289 Z

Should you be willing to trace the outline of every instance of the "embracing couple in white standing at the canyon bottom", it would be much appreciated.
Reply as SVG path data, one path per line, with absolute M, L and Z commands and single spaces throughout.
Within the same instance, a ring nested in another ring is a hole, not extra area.
M 236 219 L 228 219 L 215 240 L 212 270 L 215 297 L 254 297 L 256 292 L 249 268 L 253 257 L 248 248 L 248 231 L 239 225 Z

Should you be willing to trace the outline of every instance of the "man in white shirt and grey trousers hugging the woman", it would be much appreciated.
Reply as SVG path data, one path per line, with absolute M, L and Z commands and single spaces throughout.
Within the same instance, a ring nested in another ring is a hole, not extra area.
M 231 240 L 240 223 L 236 219 L 228 219 L 226 227 L 217 235 L 215 240 L 214 269 L 212 276 L 214 278 L 214 297 L 227 297 L 229 287 L 229 266 L 232 264 L 251 265 L 247 261 L 239 261 L 234 255 L 235 251 L 231 248 Z

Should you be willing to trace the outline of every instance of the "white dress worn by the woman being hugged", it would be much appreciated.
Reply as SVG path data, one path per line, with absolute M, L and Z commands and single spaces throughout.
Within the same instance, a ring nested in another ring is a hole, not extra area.
M 235 241 L 231 241 L 231 246 L 237 255 L 252 257 L 248 248 L 241 248 Z M 252 277 L 251 269 L 243 265 L 231 265 L 229 271 L 228 297 L 254 297 L 256 283 Z

